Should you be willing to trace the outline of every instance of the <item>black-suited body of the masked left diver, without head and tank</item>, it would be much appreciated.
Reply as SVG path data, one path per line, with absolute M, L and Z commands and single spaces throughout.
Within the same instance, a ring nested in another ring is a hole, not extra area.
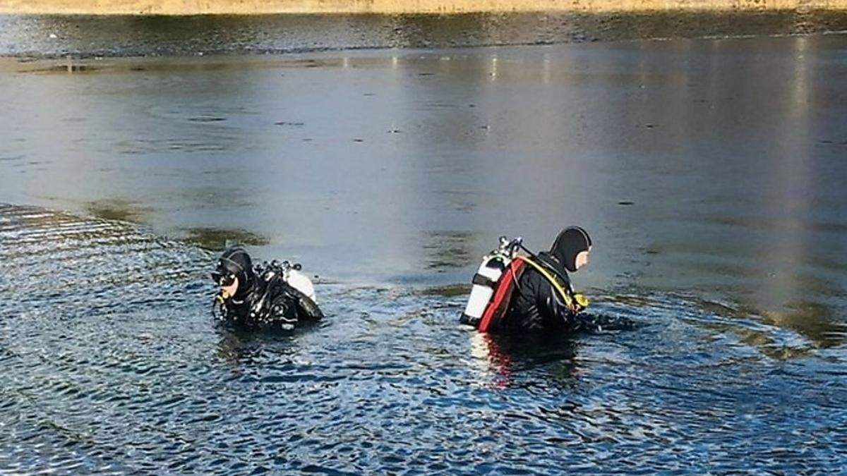
M 257 274 L 243 298 L 226 300 L 219 311 L 225 323 L 246 329 L 290 330 L 324 318 L 312 299 L 288 285 L 279 274 L 269 279 Z

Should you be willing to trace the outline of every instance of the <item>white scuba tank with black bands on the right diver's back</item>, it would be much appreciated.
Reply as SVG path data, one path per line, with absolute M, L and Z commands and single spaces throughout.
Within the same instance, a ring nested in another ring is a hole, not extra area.
M 500 246 L 482 258 L 476 274 L 473 275 L 473 287 L 468 298 L 468 305 L 460 321 L 463 324 L 476 325 L 482 318 L 485 308 L 491 302 L 491 296 L 497 288 L 497 283 L 503 275 L 503 271 L 512 263 L 512 259 L 518 254 L 522 238 L 518 237 L 509 241 L 506 236 L 500 237 Z

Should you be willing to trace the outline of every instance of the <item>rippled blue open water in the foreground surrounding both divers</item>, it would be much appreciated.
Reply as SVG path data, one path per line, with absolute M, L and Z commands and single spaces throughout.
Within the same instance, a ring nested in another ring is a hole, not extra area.
M 213 253 L 125 222 L 2 206 L 0 262 L 0 472 L 847 465 L 843 351 L 690 297 L 596 296 L 634 328 L 502 340 L 443 289 L 324 282 L 322 324 L 239 335 L 209 313 Z

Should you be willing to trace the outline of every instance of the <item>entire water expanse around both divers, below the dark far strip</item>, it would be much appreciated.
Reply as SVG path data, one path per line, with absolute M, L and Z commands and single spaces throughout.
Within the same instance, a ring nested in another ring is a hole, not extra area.
M 839 35 L 2 60 L 0 472 L 844 471 L 845 80 Z M 632 329 L 456 323 L 572 223 Z M 329 318 L 217 329 L 228 239 Z

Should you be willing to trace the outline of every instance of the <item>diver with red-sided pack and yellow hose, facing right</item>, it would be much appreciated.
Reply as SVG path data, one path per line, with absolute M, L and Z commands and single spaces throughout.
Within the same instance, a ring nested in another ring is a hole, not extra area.
M 523 250 L 525 254 L 518 254 Z M 562 230 L 549 252 L 534 254 L 517 238 L 501 237 L 501 246 L 484 257 L 463 324 L 482 332 L 528 334 L 579 329 L 577 315 L 588 306 L 576 294 L 568 272 L 589 262 L 591 238 L 579 226 Z

